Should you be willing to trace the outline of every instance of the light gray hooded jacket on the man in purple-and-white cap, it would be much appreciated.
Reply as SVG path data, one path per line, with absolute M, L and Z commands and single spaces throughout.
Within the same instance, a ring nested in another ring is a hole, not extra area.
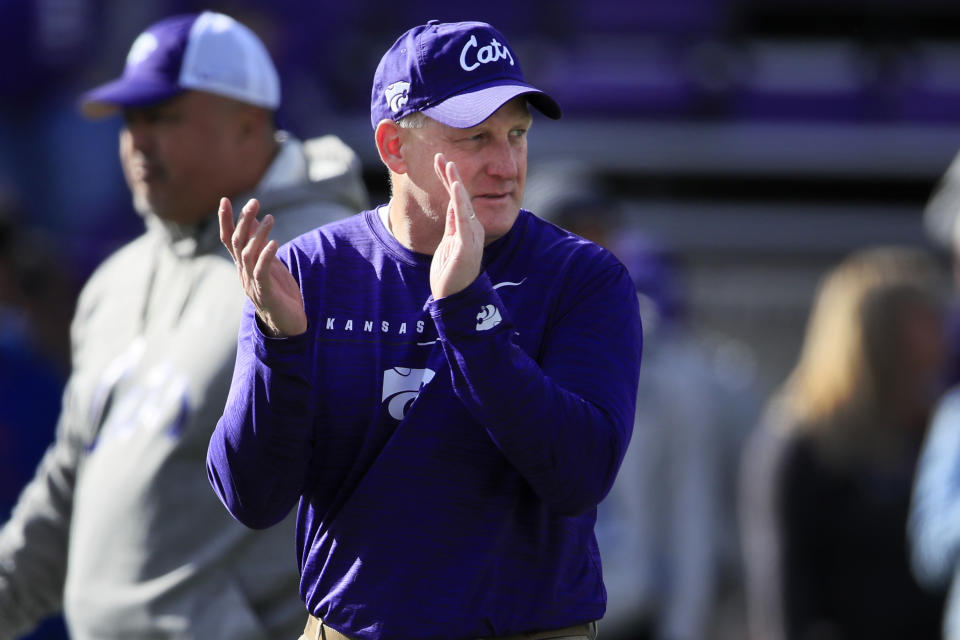
M 250 194 L 276 218 L 271 237 L 367 207 L 359 161 L 337 138 L 281 143 Z M 195 228 L 146 222 L 80 295 L 56 439 L 0 529 L 2 640 L 61 609 L 76 640 L 303 627 L 294 514 L 249 530 L 206 478 L 244 299 L 236 268 L 214 215 Z

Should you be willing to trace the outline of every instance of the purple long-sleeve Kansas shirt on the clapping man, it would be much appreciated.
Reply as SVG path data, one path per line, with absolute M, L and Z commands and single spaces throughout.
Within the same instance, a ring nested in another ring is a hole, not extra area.
M 282 248 L 309 328 L 244 312 L 211 484 L 251 527 L 299 501 L 307 609 L 356 638 L 451 640 L 603 616 L 596 506 L 630 440 L 634 285 L 521 211 L 463 291 L 376 211 Z

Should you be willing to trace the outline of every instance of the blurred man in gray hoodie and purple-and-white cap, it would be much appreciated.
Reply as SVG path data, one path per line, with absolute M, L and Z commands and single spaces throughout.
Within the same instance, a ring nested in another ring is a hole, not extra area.
M 292 238 L 366 204 L 339 140 L 278 131 L 260 40 L 217 13 L 140 34 L 84 113 L 122 111 L 120 159 L 146 231 L 84 287 L 55 442 L 0 529 L 0 638 L 61 609 L 83 638 L 276 638 L 302 626 L 293 520 L 217 503 L 204 456 L 230 384 L 243 292 L 219 197 L 256 196 Z

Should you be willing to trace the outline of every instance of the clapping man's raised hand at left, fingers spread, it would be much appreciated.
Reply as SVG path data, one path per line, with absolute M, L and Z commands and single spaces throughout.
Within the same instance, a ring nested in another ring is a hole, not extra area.
M 234 228 L 233 206 L 229 199 L 221 198 L 220 242 L 237 265 L 240 284 L 256 307 L 265 333 L 274 338 L 299 335 L 307 330 L 303 296 L 290 270 L 277 258 L 280 245 L 276 240 L 267 241 L 273 216 L 267 214 L 257 222 L 259 210 L 260 203 L 249 200 Z

